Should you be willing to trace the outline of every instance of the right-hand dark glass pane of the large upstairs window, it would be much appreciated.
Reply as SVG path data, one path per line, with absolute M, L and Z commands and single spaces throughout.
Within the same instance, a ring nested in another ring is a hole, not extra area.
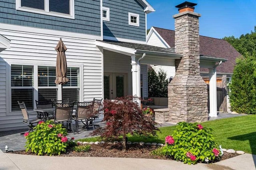
M 49 0 L 50 11 L 70 14 L 70 0 Z

